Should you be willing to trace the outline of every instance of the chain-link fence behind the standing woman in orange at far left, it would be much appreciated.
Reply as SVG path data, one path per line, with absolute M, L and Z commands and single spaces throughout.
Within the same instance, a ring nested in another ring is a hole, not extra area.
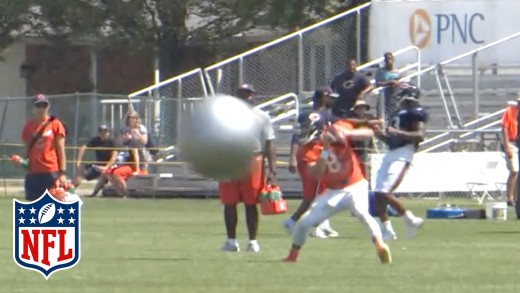
M 122 95 L 73 93 L 47 96 L 50 114 L 64 124 L 67 131 L 66 147 L 68 170 L 74 172 L 73 163 L 79 146 L 97 134 L 100 123 L 106 123 L 117 134 L 128 111 L 128 97 Z M 34 97 L 0 98 L 0 177 L 22 178 L 23 170 L 13 168 L 12 154 L 24 152 L 21 139 L 25 122 L 31 119 Z M 141 117 L 147 117 L 145 103 L 134 103 L 134 109 Z M 144 119 L 146 123 L 146 119 Z M 146 125 L 146 124 L 145 124 Z M 91 154 L 87 154 L 86 159 Z M 72 175 L 72 174 L 69 174 Z

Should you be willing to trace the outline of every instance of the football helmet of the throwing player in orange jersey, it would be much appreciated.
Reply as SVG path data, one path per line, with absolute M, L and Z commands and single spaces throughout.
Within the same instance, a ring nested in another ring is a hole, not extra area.
M 325 126 L 333 122 L 327 111 L 305 111 L 298 116 L 296 136 L 298 143 L 307 144 L 320 138 Z

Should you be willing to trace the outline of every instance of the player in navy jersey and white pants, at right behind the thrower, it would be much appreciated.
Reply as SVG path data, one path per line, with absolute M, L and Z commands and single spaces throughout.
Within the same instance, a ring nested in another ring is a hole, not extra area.
M 388 204 L 399 216 L 404 216 L 409 237 L 413 237 L 424 223 L 423 219 L 406 210 L 393 195 L 410 167 L 419 143 L 424 140 L 424 124 L 428 115 L 419 104 L 420 94 L 417 87 L 402 84 L 396 94 L 396 98 L 401 100 L 399 109 L 391 116 L 389 126 L 385 130 L 379 125 L 374 127 L 375 135 L 388 146 L 374 188 L 376 212 L 382 222 L 384 239 L 397 238 L 386 213 Z

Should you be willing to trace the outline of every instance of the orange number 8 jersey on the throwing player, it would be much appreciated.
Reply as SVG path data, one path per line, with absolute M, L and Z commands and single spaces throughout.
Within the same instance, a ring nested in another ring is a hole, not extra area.
M 352 124 L 344 121 L 337 122 L 336 127 L 353 129 Z M 320 158 L 323 145 L 321 142 L 301 146 L 302 160 L 316 162 Z M 363 180 L 363 172 L 360 168 L 357 156 L 349 143 L 332 144 L 327 160 L 327 169 L 321 178 L 324 187 L 331 189 L 343 189 Z

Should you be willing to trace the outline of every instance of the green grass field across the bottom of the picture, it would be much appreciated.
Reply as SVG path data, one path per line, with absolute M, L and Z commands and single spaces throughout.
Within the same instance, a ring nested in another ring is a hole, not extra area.
M 406 203 L 424 216 L 439 202 Z M 14 263 L 12 201 L 2 198 L 0 292 L 520 292 L 520 222 L 509 213 L 507 222 L 427 221 L 417 238 L 391 243 L 390 266 L 379 263 L 356 219 L 338 215 L 340 238 L 310 239 L 299 263 L 284 264 L 286 215 L 261 218 L 261 253 L 230 254 L 219 251 L 216 200 L 87 199 L 81 261 L 46 281 Z M 394 223 L 404 235 L 402 219 Z M 243 217 L 239 234 L 245 249 Z

